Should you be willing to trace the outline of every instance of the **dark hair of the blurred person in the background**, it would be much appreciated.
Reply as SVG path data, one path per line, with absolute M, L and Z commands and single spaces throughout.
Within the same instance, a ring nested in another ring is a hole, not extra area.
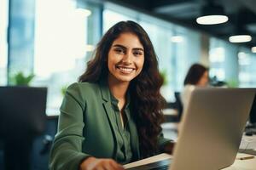
M 189 71 L 184 79 L 184 85 L 187 84 L 197 84 L 200 81 L 204 73 L 208 71 L 207 67 L 201 64 L 191 65 Z

